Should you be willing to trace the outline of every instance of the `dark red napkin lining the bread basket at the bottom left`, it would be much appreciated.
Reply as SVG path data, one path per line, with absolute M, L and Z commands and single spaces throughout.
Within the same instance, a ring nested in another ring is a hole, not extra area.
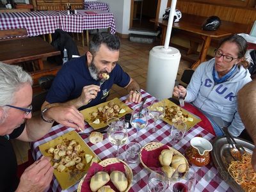
M 92 166 L 90 166 L 86 177 L 84 178 L 84 182 L 81 186 L 81 192 L 89 192 L 92 191 L 90 189 L 90 181 L 93 175 L 95 175 L 95 173 L 97 172 L 107 172 L 110 173 L 113 171 L 119 171 L 119 172 L 123 172 L 125 174 L 125 168 L 124 168 L 124 164 L 123 163 L 113 163 L 113 164 L 109 164 L 106 167 L 101 166 L 98 163 L 93 163 Z M 109 182 L 107 182 L 107 184 L 105 184 L 105 186 L 110 186 L 113 190 L 118 191 L 116 189 L 116 187 L 113 185 L 113 183 L 111 182 L 111 180 L 109 180 Z

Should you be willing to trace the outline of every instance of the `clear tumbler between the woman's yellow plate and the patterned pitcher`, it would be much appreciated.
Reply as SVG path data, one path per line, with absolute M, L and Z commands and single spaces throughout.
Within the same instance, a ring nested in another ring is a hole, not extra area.
M 171 145 L 177 144 L 182 138 L 187 130 L 187 125 L 184 122 L 177 122 L 172 124 L 171 129 Z

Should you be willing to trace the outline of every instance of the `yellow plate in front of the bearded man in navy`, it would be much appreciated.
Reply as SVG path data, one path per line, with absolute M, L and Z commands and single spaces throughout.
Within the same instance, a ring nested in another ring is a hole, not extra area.
M 102 127 L 106 127 L 108 124 L 106 123 L 106 121 L 103 121 L 99 118 L 100 120 L 100 123 L 99 124 L 93 124 L 93 120 L 92 120 L 92 113 L 93 112 L 98 112 L 98 108 L 99 107 L 104 107 L 106 105 L 108 105 L 109 102 L 113 101 L 115 104 L 118 104 L 118 106 L 120 106 L 120 109 L 124 109 L 125 110 L 125 113 L 118 113 L 115 117 L 117 118 L 121 118 L 122 116 L 126 115 L 127 113 L 131 113 L 132 112 L 132 109 L 129 108 L 127 105 L 124 104 L 124 102 L 122 102 L 120 99 L 118 98 L 115 98 L 115 99 L 112 99 L 112 100 L 109 100 L 108 102 L 103 102 L 97 106 L 93 106 L 91 108 L 87 108 L 87 109 L 83 109 L 82 111 L 80 111 L 83 116 L 84 116 L 84 120 L 86 122 L 88 122 L 89 125 L 91 125 L 91 127 L 93 129 L 100 129 Z

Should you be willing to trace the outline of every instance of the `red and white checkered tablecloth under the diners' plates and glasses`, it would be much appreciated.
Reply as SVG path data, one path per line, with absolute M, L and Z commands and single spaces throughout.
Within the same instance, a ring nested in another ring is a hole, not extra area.
M 147 101 L 145 102 L 145 107 L 149 106 L 152 100 L 155 98 L 149 95 L 148 93 L 142 91 L 143 98 L 147 98 Z M 120 100 L 125 100 L 127 97 L 122 97 Z M 137 106 L 140 104 L 134 104 L 129 103 L 128 106 L 130 108 L 134 108 L 134 106 Z M 171 126 L 163 122 L 162 120 L 158 120 L 156 127 L 158 131 L 154 134 L 150 134 L 148 132 L 148 129 L 152 129 L 154 125 L 154 120 L 149 119 L 148 120 L 148 126 L 145 129 L 141 129 L 139 132 L 138 140 L 140 141 L 141 145 L 145 145 L 146 143 L 150 143 L 152 141 L 161 142 L 167 145 L 170 145 L 170 129 Z M 90 132 L 93 131 L 92 127 L 90 125 L 85 125 L 85 131 L 84 132 Z M 52 139 L 61 136 L 62 134 L 65 134 L 66 132 L 70 132 L 74 129 L 63 127 L 63 125 L 56 125 L 55 127 L 52 127 L 51 132 L 49 132 L 47 135 L 44 136 L 41 140 L 38 140 L 34 143 L 31 143 L 31 148 L 33 152 L 33 156 L 38 159 L 40 156 L 42 156 L 41 152 L 39 151 L 38 146 L 42 145 L 43 143 L 46 143 L 47 141 L 51 141 Z M 136 131 L 134 128 L 129 129 L 129 141 L 134 140 L 136 137 Z M 188 132 L 186 132 L 184 138 L 177 143 L 176 145 L 172 146 L 173 148 L 179 150 L 182 154 L 184 154 L 184 150 L 189 146 L 189 141 L 191 138 L 195 137 L 196 135 L 201 134 L 205 139 L 211 141 L 214 136 L 202 129 L 202 127 L 195 126 L 192 129 L 190 129 Z M 82 138 L 84 141 L 89 145 L 90 148 L 99 156 L 100 159 L 107 159 L 109 157 L 113 157 L 113 152 L 116 151 L 116 146 L 112 145 L 107 135 L 104 134 L 104 140 L 100 143 L 97 143 L 96 145 L 93 145 L 90 143 L 88 135 L 83 135 Z M 171 146 L 171 145 L 170 145 Z M 120 156 L 121 159 L 124 159 L 125 155 L 125 145 L 120 147 Z M 134 184 L 129 191 L 147 191 L 147 181 L 150 172 L 143 168 L 141 164 L 129 164 L 129 166 L 132 168 L 133 175 L 137 177 L 137 182 Z M 228 186 L 228 184 L 222 180 L 219 177 L 219 173 L 217 169 L 213 166 L 213 163 L 208 164 L 204 167 L 196 167 L 193 166 L 196 170 L 196 174 L 198 176 L 198 179 L 196 179 L 196 189 L 195 191 L 232 191 L 232 189 Z M 74 186 L 66 189 L 65 191 L 75 191 L 77 189 L 77 184 Z M 51 189 L 52 191 L 61 191 L 60 185 L 58 184 L 58 181 L 54 177 L 51 182 Z M 166 190 L 168 191 L 168 190 Z M 170 191 L 170 190 L 169 190 Z

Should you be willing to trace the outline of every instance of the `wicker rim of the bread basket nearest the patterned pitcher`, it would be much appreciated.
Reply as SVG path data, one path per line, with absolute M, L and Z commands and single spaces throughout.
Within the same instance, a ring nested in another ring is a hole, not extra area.
M 163 143 L 151 142 L 151 143 L 147 143 L 144 147 L 141 148 L 141 151 L 140 151 L 140 162 L 141 162 L 141 164 L 142 164 L 145 168 L 147 168 L 147 170 L 149 170 L 150 172 L 154 172 L 154 170 L 148 168 L 148 166 L 142 161 L 142 159 L 141 159 L 141 152 L 142 152 L 142 150 L 147 150 L 147 152 L 149 152 L 149 151 L 156 150 L 157 148 L 160 148 L 160 147 L 163 147 L 163 146 L 164 146 Z M 172 150 L 173 156 L 179 155 L 179 156 L 184 157 L 178 150 L 175 150 L 174 148 L 169 147 L 168 145 L 166 145 L 166 146 L 167 146 L 170 150 Z M 186 157 L 184 157 L 184 159 L 185 159 L 185 161 L 186 161 L 187 170 L 188 170 L 188 168 L 189 168 L 188 161 L 187 161 Z

